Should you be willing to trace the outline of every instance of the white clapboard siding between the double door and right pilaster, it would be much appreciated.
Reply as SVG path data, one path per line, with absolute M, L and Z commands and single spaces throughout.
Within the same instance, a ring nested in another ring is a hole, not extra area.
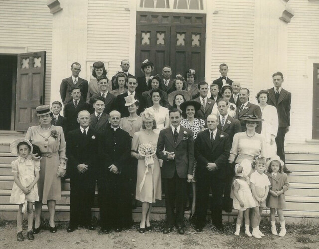
M 227 63 L 229 78 L 252 88 L 254 0 L 215 0 L 211 44 L 211 79 L 220 76 L 219 65 Z M 211 83 L 211 82 L 210 82 Z

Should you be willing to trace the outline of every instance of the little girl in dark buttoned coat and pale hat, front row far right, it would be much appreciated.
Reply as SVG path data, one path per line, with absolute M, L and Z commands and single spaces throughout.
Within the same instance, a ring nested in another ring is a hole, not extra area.
M 267 162 L 267 176 L 270 181 L 269 195 L 266 199 L 266 206 L 270 208 L 270 223 L 271 233 L 284 237 L 286 234 L 285 218 L 283 215 L 283 208 L 285 208 L 285 192 L 289 189 L 289 182 L 287 174 L 283 172 L 284 162 L 280 160 L 279 156 L 273 156 Z M 275 214 L 280 222 L 280 232 L 277 234 L 275 224 Z

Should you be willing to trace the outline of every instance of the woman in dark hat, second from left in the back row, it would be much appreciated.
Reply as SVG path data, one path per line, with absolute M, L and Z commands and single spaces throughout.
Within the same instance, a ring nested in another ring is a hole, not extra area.
M 97 96 L 100 94 L 100 89 L 99 89 L 97 78 L 102 76 L 102 75 L 106 76 L 106 74 L 107 74 L 107 71 L 106 71 L 104 63 L 102 61 L 96 61 L 93 63 L 92 76 L 94 77 L 94 79 L 90 80 L 90 82 L 89 82 L 88 95 L 86 96 L 87 103 L 90 103 L 91 97 Z M 108 79 L 108 82 L 109 81 L 110 80 Z M 109 84 L 108 91 L 111 91 L 111 90 L 112 90 L 112 84 Z

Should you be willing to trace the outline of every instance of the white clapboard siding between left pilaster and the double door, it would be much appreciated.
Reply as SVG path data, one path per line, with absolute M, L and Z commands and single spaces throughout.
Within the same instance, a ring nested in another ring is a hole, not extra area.
M 108 62 L 108 77 L 129 58 L 128 5 L 128 0 L 88 0 L 87 61 Z

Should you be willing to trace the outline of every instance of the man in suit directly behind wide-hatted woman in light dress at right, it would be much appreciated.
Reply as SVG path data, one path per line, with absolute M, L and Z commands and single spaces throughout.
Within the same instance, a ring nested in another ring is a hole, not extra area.
M 241 120 L 240 118 L 244 115 L 250 115 L 250 114 L 254 114 L 258 118 L 261 118 L 261 109 L 259 106 L 249 102 L 249 89 L 248 88 L 240 89 L 239 100 L 240 100 L 241 106 L 240 106 L 240 108 L 237 108 L 235 118 L 240 121 L 241 131 L 244 132 L 247 130 L 246 121 Z M 258 122 L 256 132 L 258 134 L 260 134 L 260 132 L 261 132 L 261 121 Z

